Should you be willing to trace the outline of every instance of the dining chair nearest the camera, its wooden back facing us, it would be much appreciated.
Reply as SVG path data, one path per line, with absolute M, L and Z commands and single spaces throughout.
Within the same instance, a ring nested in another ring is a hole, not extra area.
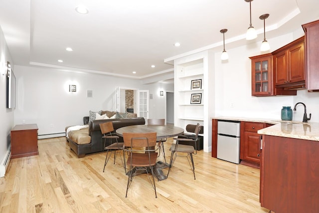
M 128 190 L 132 184 L 133 178 L 136 176 L 137 172 L 141 170 L 145 171 L 148 175 L 151 185 L 155 190 L 155 198 L 157 198 L 154 179 L 154 167 L 156 164 L 156 159 L 158 157 L 158 154 L 155 152 L 156 135 L 156 132 L 123 133 L 125 147 L 124 151 L 128 154 L 127 166 L 130 167 L 130 171 L 128 172 L 129 178 L 125 195 L 126 198 L 128 195 Z M 150 178 L 149 170 L 151 170 L 152 172 L 153 182 Z

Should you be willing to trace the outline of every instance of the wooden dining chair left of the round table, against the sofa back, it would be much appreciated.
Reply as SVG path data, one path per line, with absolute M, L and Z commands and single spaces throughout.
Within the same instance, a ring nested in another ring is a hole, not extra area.
M 104 162 L 104 168 L 103 172 L 105 170 L 105 166 L 108 163 L 108 161 L 111 158 L 112 153 L 114 153 L 114 164 L 115 164 L 115 159 L 117 154 L 122 151 L 123 154 L 123 159 L 122 156 L 120 155 L 122 164 L 124 166 L 125 174 L 126 174 L 126 165 L 125 165 L 125 156 L 124 156 L 124 143 L 118 142 L 119 136 L 114 133 L 114 128 L 113 128 L 113 123 L 112 122 L 106 122 L 106 123 L 101 123 L 100 124 L 100 129 L 103 134 L 102 138 L 104 138 L 104 150 L 106 150 L 106 156 L 105 156 L 105 162 Z M 109 143 L 107 144 L 107 139 L 109 139 Z M 115 139 L 115 141 L 113 141 Z

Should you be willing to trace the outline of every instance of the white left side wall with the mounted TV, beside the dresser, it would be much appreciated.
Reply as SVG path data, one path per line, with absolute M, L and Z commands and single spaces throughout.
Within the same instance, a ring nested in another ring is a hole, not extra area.
M 2 119 L 0 128 L 0 162 L 10 145 L 10 130 L 13 127 L 14 109 L 6 108 L 6 62 L 9 61 L 13 67 L 9 50 L 7 48 L 2 29 L 0 28 L 0 118 Z M 15 70 L 14 70 L 15 73 Z

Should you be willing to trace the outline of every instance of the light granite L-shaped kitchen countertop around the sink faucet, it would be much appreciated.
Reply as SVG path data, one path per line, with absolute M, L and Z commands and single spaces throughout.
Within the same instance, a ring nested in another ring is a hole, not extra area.
M 301 121 L 245 117 L 213 117 L 212 119 L 274 124 L 273 126 L 258 130 L 257 133 L 261 135 L 319 141 L 319 123 L 316 122 L 303 123 Z

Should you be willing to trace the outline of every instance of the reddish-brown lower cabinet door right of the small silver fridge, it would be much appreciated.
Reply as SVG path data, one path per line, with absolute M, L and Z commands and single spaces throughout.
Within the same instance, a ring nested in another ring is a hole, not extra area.
M 260 135 L 245 132 L 244 160 L 260 163 Z

